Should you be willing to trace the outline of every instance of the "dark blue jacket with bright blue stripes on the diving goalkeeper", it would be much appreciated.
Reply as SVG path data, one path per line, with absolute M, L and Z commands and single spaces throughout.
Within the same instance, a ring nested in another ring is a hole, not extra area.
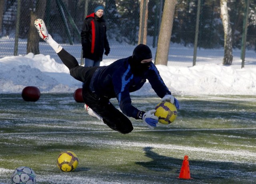
M 134 74 L 132 65 L 130 65 L 131 60 L 132 57 L 128 57 L 119 59 L 108 66 L 99 67 L 92 76 L 90 90 L 100 98 L 117 98 L 122 112 L 138 119 L 139 110 L 132 106 L 130 92 L 139 90 L 146 79 L 160 98 L 171 92 L 164 84 L 154 63 L 146 64 L 146 69 L 142 68 L 140 72 Z

